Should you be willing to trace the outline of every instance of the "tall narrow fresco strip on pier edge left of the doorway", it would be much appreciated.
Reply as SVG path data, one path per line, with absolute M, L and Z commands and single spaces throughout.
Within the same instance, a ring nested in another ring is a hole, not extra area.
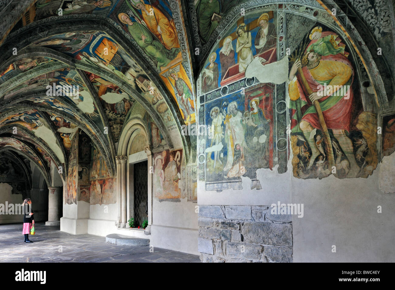
M 68 163 L 68 174 L 66 181 L 66 195 L 65 204 L 77 203 L 77 190 L 78 190 L 78 135 L 75 134 L 74 138 L 71 140 L 69 163 Z

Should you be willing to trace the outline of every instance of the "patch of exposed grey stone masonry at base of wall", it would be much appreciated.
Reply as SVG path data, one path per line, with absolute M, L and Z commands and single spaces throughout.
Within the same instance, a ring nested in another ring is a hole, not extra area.
M 270 206 L 199 206 L 202 262 L 292 262 L 292 216 Z

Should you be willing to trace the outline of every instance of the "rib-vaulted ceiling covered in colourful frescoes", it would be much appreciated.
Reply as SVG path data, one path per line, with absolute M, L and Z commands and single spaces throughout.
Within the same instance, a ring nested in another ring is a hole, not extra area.
M 139 104 L 167 146 L 183 148 L 187 160 L 194 161 L 196 140 L 182 135 L 181 125 L 197 118 L 199 71 L 220 30 L 242 9 L 275 2 L 2 1 L 0 146 L 18 150 L 47 176 L 50 163 L 64 167 L 65 178 L 70 140 L 81 129 L 102 152 L 113 174 L 122 124 Z M 317 5 L 313 0 L 294 2 Z M 361 20 L 359 6 L 350 1 L 318 2 L 342 8 L 345 16 L 355 17 L 360 30 L 370 30 L 370 22 Z M 214 26 L 213 13 L 218 15 Z M 166 29 L 158 30 L 158 23 Z M 371 52 L 377 49 L 377 43 L 367 45 Z M 383 58 L 379 69 L 391 70 L 394 59 Z M 191 92 L 194 112 L 188 118 L 175 96 L 171 73 L 182 78 Z M 391 73 L 383 75 L 391 101 L 394 80 Z

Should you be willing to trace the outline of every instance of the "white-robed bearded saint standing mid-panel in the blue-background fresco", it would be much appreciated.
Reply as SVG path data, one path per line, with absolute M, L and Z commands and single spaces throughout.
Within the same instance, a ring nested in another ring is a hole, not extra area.
M 234 167 L 233 164 L 233 159 L 235 157 L 235 149 L 236 149 L 236 144 L 240 146 L 238 150 L 240 150 L 240 153 L 243 153 L 244 148 L 246 147 L 245 144 L 245 125 L 243 124 L 243 114 L 237 109 L 237 103 L 235 101 L 231 102 L 228 105 L 228 113 L 226 115 L 224 124 L 225 124 L 225 141 L 227 142 L 228 145 L 228 156 L 227 156 L 227 161 L 226 165 L 224 167 L 225 172 L 229 172 L 229 170 Z M 242 156 L 239 155 L 241 158 Z M 238 176 L 241 176 L 243 172 L 243 168 L 239 168 L 240 171 L 237 174 L 240 174 Z M 232 171 L 233 172 L 233 171 Z M 233 172 L 234 173 L 234 172 Z M 232 173 L 232 174 L 233 174 Z M 232 175 L 231 174 L 231 175 Z M 237 175 L 236 174 L 236 175 Z M 236 177 L 235 176 L 226 176 L 228 177 Z

